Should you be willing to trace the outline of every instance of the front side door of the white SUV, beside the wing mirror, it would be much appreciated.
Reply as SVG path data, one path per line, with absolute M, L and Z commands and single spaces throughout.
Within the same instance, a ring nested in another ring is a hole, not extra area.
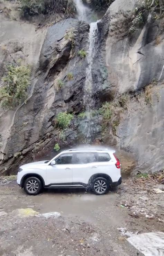
M 72 153 L 63 153 L 46 169 L 46 185 L 72 185 Z

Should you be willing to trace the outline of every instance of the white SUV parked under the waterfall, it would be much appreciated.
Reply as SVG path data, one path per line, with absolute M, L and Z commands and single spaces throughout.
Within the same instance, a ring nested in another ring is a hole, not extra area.
M 69 149 L 50 161 L 22 165 L 17 183 L 29 195 L 42 188 L 91 188 L 97 195 L 121 184 L 120 162 L 115 151 Z

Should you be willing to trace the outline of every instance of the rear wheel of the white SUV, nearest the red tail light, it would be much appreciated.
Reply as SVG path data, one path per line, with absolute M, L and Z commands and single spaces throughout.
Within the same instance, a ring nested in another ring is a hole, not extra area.
M 109 181 L 105 178 L 99 177 L 92 182 L 92 191 L 96 195 L 104 195 L 109 191 Z

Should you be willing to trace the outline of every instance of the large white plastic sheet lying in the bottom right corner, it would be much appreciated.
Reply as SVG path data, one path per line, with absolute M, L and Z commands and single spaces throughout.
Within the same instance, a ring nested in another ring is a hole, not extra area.
M 127 238 L 127 241 L 138 249 L 145 256 L 164 255 L 164 233 L 150 232 L 134 235 Z

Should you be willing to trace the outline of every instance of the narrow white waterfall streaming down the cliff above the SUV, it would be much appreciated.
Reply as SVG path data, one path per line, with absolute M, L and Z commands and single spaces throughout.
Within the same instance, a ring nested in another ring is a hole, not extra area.
M 82 0 L 74 0 L 76 9 L 78 12 L 77 18 L 79 20 L 84 20 L 87 23 L 90 22 L 90 12 L 91 9 L 86 7 Z M 87 61 L 88 67 L 86 68 L 86 79 L 84 85 L 84 106 L 86 111 L 86 120 L 84 126 L 84 135 L 85 135 L 85 142 L 90 143 L 92 142 L 93 134 L 95 133 L 95 123 L 93 120 L 93 110 L 94 110 L 94 98 L 93 98 L 93 79 L 92 79 L 92 66 L 93 60 L 96 51 L 96 43 L 98 37 L 98 26 L 97 22 L 90 23 L 90 32 L 89 32 L 89 39 L 88 39 L 88 52 L 87 52 Z

